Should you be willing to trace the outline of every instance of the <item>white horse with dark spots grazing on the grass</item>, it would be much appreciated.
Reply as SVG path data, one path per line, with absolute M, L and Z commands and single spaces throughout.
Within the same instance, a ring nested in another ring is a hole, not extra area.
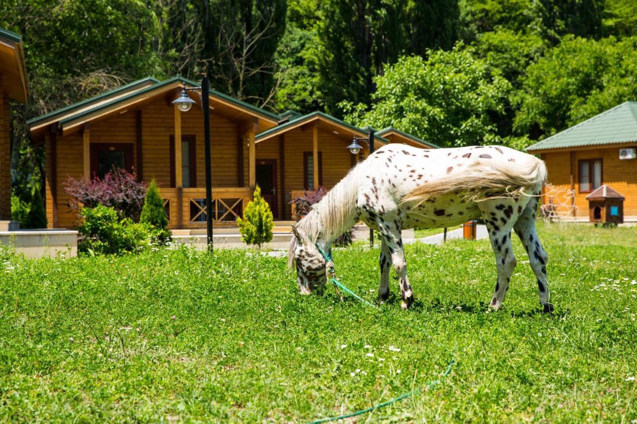
M 320 250 L 329 251 L 336 237 L 362 220 L 382 237 L 378 302 L 389 297 L 393 264 L 406 309 L 413 302 L 413 290 L 401 230 L 452 227 L 482 218 L 496 255 L 491 306 L 502 306 L 515 268 L 513 229 L 529 255 L 540 304 L 550 312 L 547 253 L 535 229 L 538 195 L 546 178 L 540 159 L 501 146 L 434 150 L 383 146 L 355 166 L 292 228 L 289 266 L 296 265 L 301 293 L 315 289 L 322 293 L 327 262 Z

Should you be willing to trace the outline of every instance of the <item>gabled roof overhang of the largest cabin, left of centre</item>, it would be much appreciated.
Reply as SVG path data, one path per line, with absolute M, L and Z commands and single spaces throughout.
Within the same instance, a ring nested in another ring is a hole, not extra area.
M 47 119 L 41 121 L 39 124 L 32 125 L 30 128 L 31 136 L 34 139 L 41 138 L 45 129 L 54 124 L 57 124 L 63 136 L 67 136 L 68 134 L 73 134 L 73 132 L 80 131 L 87 122 L 104 120 L 128 110 L 137 110 L 152 102 L 162 101 L 162 99 L 171 102 L 176 99 L 183 85 L 187 87 L 197 86 L 193 81 L 176 76 L 175 78 L 154 82 L 150 85 L 129 87 L 129 89 L 123 92 L 117 92 L 117 94 L 105 99 L 92 99 L 92 101 L 83 107 L 74 108 L 73 106 L 76 106 L 76 104 L 68 106 L 68 113 L 62 113 L 62 115 L 57 115 L 52 119 Z M 199 100 L 197 95 L 193 97 L 196 101 Z M 255 106 L 233 99 L 215 90 L 211 90 L 210 92 L 210 108 L 215 110 L 215 113 L 237 122 L 249 122 L 251 120 L 254 122 L 254 120 L 256 120 L 258 131 L 264 131 L 274 127 L 280 118 L 278 115 L 260 110 Z M 38 119 L 39 118 L 35 118 L 30 122 L 37 122 Z

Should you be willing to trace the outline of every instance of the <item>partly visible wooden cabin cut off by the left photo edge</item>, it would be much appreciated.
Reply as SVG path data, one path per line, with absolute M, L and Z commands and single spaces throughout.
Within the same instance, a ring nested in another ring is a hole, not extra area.
M 0 230 L 11 220 L 11 135 L 9 102 L 27 101 L 22 37 L 0 28 Z

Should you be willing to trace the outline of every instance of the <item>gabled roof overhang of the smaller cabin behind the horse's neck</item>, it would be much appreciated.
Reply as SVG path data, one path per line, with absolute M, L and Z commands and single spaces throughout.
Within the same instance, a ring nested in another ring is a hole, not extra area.
M 368 132 L 364 129 L 346 124 L 331 115 L 316 111 L 308 113 L 308 115 L 303 115 L 302 117 L 294 118 L 284 122 L 283 124 L 277 125 L 268 131 L 257 134 L 256 143 L 262 143 L 263 141 L 275 138 L 276 136 L 280 136 L 285 132 L 292 131 L 299 127 L 301 127 L 301 129 L 306 129 L 313 125 L 318 125 L 321 131 L 332 132 L 336 136 L 340 136 L 341 138 L 348 140 L 351 140 L 353 136 L 359 136 L 361 138 L 369 136 Z M 383 144 L 387 144 L 389 142 L 387 139 L 380 136 L 376 136 L 375 140 L 380 141 Z

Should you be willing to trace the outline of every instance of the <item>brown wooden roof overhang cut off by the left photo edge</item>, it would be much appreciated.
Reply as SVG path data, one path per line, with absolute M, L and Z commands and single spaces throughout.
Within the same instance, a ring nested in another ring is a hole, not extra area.
M 0 28 L 0 74 L 3 91 L 11 99 L 26 103 L 29 95 L 22 36 Z

